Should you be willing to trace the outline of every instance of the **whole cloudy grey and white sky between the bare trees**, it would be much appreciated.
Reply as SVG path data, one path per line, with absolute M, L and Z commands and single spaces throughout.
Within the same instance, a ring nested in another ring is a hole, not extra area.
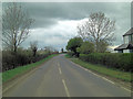
M 123 43 L 122 35 L 131 28 L 130 2 L 21 2 L 21 6 L 35 20 L 29 37 L 21 45 L 25 48 L 33 41 L 38 41 L 39 48 L 65 48 L 68 41 L 78 35 L 78 24 L 93 12 L 103 12 L 115 20 L 116 40 L 112 47 Z

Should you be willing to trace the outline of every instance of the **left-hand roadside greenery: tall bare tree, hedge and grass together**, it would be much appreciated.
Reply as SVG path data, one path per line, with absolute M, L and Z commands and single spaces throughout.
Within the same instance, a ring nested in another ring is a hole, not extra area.
M 59 52 L 51 46 L 39 48 L 38 41 L 32 40 L 28 47 L 22 47 L 21 44 L 29 37 L 35 20 L 17 2 L 7 3 L 2 10 L 1 74 L 4 82 L 32 67 L 41 65 Z

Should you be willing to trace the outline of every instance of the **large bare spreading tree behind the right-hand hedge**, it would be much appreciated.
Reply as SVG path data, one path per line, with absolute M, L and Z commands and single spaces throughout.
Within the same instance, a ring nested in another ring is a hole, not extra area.
M 106 47 L 114 40 L 115 21 L 111 21 L 104 13 L 91 13 L 88 21 L 78 25 L 78 34 L 84 40 L 93 42 L 96 52 Z M 101 42 L 104 43 L 101 45 Z

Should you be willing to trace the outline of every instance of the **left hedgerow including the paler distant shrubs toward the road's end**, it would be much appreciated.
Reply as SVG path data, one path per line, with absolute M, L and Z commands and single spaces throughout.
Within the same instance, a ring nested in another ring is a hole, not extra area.
M 2 72 L 39 62 L 51 54 L 58 54 L 58 52 L 50 46 L 45 46 L 44 50 L 37 50 L 35 53 L 31 47 L 28 50 L 19 47 L 17 53 L 3 50 Z

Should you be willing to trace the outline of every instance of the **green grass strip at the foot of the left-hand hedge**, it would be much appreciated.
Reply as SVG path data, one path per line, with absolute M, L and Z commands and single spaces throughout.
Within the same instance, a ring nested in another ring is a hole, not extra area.
M 58 55 L 58 54 L 50 55 L 50 56 L 41 59 L 40 62 L 32 63 L 32 64 L 29 64 L 29 65 L 25 65 L 25 66 L 20 66 L 20 67 L 17 67 L 14 69 L 7 70 L 7 72 L 2 73 L 2 82 L 6 82 L 7 80 L 16 77 L 17 75 L 23 74 L 24 72 L 28 72 L 31 68 L 37 67 L 37 66 L 43 64 L 45 61 L 52 58 L 55 55 Z

